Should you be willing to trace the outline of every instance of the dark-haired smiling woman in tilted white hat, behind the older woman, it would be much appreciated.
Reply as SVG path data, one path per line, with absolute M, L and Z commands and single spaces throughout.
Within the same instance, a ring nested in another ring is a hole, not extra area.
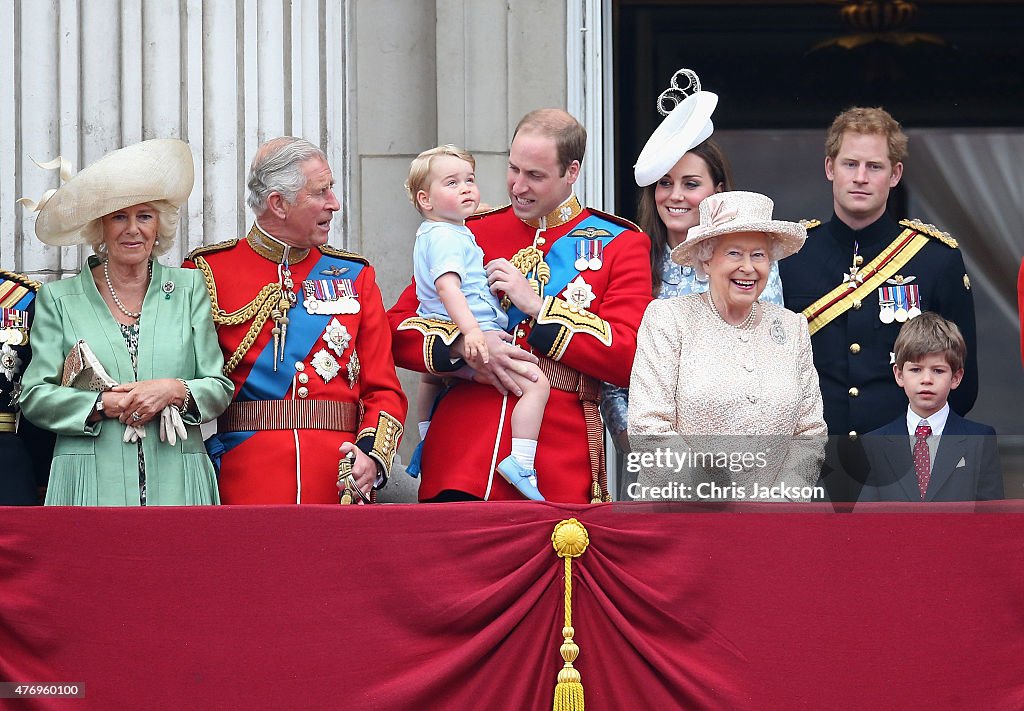
M 671 111 L 667 111 L 674 104 Z M 666 118 L 644 145 L 634 166 L 636 183 L 643 190 L 637 221 L 650 237 L 651 294 L 655 299 L 701 293 L 708 281 L 692 266 L 675 263 L 670 254 L 697 224 L 697 206 L 708 196 L 733 190 L 732 171 L 721 147 L 710 136 L 711 117 L 718 95 L 700 89 L 691 70 L 681 69 L 657 100 Z M 762 298 L 782 305 L 782 282 L 772 265 Z M 601 413 L 621 451 L 628 451 L 629 391 L 604 384 Z

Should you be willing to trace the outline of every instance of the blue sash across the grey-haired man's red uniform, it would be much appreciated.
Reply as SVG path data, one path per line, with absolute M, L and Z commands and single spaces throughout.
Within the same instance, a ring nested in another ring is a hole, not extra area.
M 355 282 L 355 279 L 362 270 L 362 264 L 357 261 L 349 261 L 341 257 L 322 254 L 319 260 L 313 264 L 309 270 L 309 279 L 315 279 L 316 275 L 332 264 L 342 264 L 348 267 L 345 279 Z M 324 335 L 331 319 L 336 318 L 332 313 L 310 313 L 302 306 L 302 287 L 297 285 L 299 291 L 299 304 L 293 306 L 288 311 L 288 333 L 285 336 L 285 358 L 278 362 L 278 370 L 273 369 L 273 339 L 260 351 L 249 377 L 239 388 L 236 402 L 251 400 L 284 400 L 292 387 L 292 378 L 295 377 L 295 363 L 305 361 L 306 357 L 316 345 L 316 341 Z M 361 294 L 359 295 L 361 298 Z M 361 308 L 361 304 L 360 304 Z M 218 454 L 230 452 L 243 442 L 251 437 L 255 432 L 223 432 L 216 436 L 218 442 L 207 441 L 207 451 L 211 457 L 215 451 Z M 213 440 L 213 437 L 211 437 Z M 219 468 L 219 467 L 218 467 Z

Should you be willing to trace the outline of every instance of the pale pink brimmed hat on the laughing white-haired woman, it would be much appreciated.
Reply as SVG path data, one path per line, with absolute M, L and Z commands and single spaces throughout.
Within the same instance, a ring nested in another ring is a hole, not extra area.
M 807 228 L 799 222 L 772 219 L 775 203 L 760 193 L 715 193 L 701 200 L 699 207 L 699 224 L 690 227 L 686 239 L 672 250 L 672 260 L 677 264 L 695 266 L 696 246 L 721 235 L 763 233 L 781 246 L 779 259 L 799 252 L 807 239 Z

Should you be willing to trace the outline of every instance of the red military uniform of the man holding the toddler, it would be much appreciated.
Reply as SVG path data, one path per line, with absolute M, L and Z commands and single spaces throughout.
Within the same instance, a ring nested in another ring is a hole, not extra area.
M 637 329 L 651 298 L 649 238 L 632 222 L 582 208 L 574 196 L 532 224 L 511 206 L 466 224 L 484 262 L 509 258 L 544 297 L 536 322 L 509 308 L 515 343 L 540 357 L 551 381 L 537 448 L 541 492 L 550 501 L 608 500 L 600 381 L 629 383 Z M 414 283 L 388 311 L 395 362 L 440 375 L 461 367 L 449 349 L 457 327 L 419 318 Z M 505 399 L 492 385 L 455 380 L 424 443 L 420 499 L 445 490 L 521 498 L 495 473 L 511 451 L 514 406 L 514 396 Z

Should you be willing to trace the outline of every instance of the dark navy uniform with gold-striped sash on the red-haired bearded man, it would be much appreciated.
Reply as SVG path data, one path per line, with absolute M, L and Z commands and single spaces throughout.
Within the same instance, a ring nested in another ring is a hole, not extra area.
M 966 415 L 978 396 L 977 338 L 956 241 L 933 225 L 896 222 L 888 214 L 858 231 L 835 214 L 823 224 L 805 224 L 807 242 L 779 262 L 779 273 L 786 308 L 808 318 L 828 433 L 845 441 L 906 412 L 906 394 L 893 377 L 893 345 L 900 326 L 925 310 L 964 334 L 964 379 L 949 405 Z M 829 494 L 851 500 L 856 489 L 830 486 Z

